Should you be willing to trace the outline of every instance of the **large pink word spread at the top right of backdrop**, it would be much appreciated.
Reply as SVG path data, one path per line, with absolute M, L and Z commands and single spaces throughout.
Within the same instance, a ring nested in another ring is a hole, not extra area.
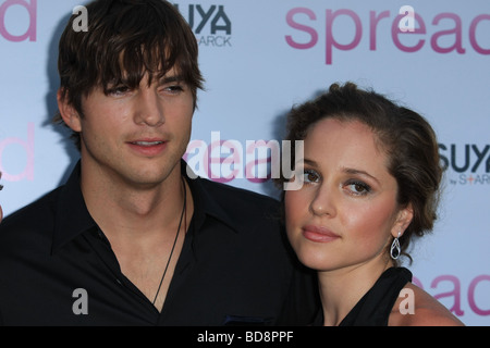
M 479 27 L 480 32 L 485 30 L 483 26 L 488 28 L 490 14 L 477 15 L 467 25 L 456 13 L 443 12 L 433 18 L 428 18 L 427 15 L 424 17 L 422 13 L 418 13 L 409 5 L 396 9 L 394 13 L 384 10 L 360 14 L 350 9 L 327 9 L 322 12 L 315 12 L 308 8 L 294 8 L 286 13 L 285 21 L 292 29 L 285 35 L 286 44 L 293 49 L 306 50 L 324 42 L 327 65 L 333 64 L 334 55 L 339 51 L 355 50 L 363 38 L 369 40 L 369 50 L 376 51 L 380 42 L 383 46 L 390 45 L 390 36 L 392 45 L 407 53 L 430 47 L 437 53 L 465 54 L 467 49 L 473 49 L 479 54 L 490 54 L 488 40 L 482 39 L 481 35 L 477 37 Z M 381 29 L 387 28 L 390 22 L 389 30 Z M 434 30 L 441 23 L 444 29 L 430 35 L 426 23 L 434 25 Z M 450 29 L 448 29 L 446 23 L 452 24 Z M 464 33 L 466 28 L 468 28 L 468 33 Z M 344 38 L 343 35 L 351 30 L 354 32 L 354 35 Z M 326 33 L 326 37 L 320 40 L 319 35 L 323 33 Z M 464 42 L 464 38 L 467 37 L 469 45 Z

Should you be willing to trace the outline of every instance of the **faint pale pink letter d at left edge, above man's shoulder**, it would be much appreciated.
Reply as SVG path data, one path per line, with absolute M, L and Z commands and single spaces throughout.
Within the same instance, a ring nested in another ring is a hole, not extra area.
M 3 167 L 3 153 L 5 152 L 5 148 L 11 145 L 23 147 L 27 156 L 24 171 L 20 174 L 9 173 Z M 29 122 L 27 124 L 27 141 L 16 137 L 10 137 L 0 141 L 0 171 L 2 172 L 2 179 L 7 182 L 20 182 L 22 179 L 34 181 L 34 123 Z

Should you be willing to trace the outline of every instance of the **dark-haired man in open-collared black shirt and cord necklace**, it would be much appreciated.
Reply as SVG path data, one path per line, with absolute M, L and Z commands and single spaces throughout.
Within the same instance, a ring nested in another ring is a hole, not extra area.
M 87 10 L 88 32 L 72 17 L 59 54 L 57 120 L 81 161 L 0 226 L 0 322 L 307 324 L 315 289 L 278 203 L 187 175 L 203 83 L 188 25 L 163 0 Z

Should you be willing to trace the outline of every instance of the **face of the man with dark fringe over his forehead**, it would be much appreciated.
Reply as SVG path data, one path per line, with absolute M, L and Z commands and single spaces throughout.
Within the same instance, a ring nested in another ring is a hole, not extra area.
M 83 170 L 89 175 L 151 188 L 179 166 L 192 128 L 191 88 L 170 70 L 139 86 L 95 88 L 82 100 L 83 116 L 69 123 L 81 133 Z

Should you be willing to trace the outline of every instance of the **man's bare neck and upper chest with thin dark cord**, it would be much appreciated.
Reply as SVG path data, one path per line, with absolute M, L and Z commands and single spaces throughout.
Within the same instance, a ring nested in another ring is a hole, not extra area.
M 194 211 L 180 166 L 151 189 L 82 176 L 82 191 L 121 272 L 161 311 Z

